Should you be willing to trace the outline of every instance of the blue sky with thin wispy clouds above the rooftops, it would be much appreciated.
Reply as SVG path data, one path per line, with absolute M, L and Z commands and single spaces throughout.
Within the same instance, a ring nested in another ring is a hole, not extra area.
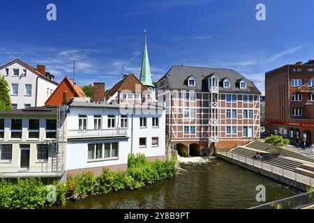
M 57 21 L 46 20 L 47 3 Z M 267 20 L 257 21 L 264 3 Z M 2 1 L 0 64 L 19 58 L 44 64 L 60 81 L 121 79 L 121 66 L 139 75 L 148 30 L 153 81 L 173 65 L 232 68 L 264 93 L 264 72 L 314 59 L 314 2 L 254 0 Z

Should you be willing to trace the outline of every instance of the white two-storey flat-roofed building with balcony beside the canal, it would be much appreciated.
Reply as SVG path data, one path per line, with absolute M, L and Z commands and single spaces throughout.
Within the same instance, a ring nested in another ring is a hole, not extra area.
M 128 154 L 165 160 L 165 109 L 158 105 L 90 102 L 74 98 L 67 130 L 67 174 L 104 167 L 125 170 Z

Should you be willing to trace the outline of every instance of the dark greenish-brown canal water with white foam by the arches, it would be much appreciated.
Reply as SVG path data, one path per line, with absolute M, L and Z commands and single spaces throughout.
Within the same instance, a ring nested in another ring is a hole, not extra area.
M 216 157 L 183 158 L 175 178 L 140 190 L 112 192 L 68 201 L 63 208 L 250 208 L 257 185 L 267 202 L 299 191 Z M 61 208 L 61 207 L 53 207 Z

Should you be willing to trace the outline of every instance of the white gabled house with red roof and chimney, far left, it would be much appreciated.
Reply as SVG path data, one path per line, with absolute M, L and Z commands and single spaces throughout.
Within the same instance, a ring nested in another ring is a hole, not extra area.
M 1 66 L 0 75 L 8 82 L 13 109 L 43 106 L 58 85 L 45 66 L 33 68 L 19 59 Z

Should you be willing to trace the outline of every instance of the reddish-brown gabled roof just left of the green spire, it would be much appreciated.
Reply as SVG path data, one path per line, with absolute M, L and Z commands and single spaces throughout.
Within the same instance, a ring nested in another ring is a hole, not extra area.
M 121 92 L 121 91 L 131 91 L 132 93 L 139 93 L 139 92 L 137 92 L 138 89 L 136 89 L 136 87 L 135 87 L 135 86 L 139 86 L 139 85 L 141 87 L 141 89 L 140 89 L 141 92 L 143 92 L 143 91 L 149 92 L 149 89 L 147 89 L 147 87 L 144 86 L 144 84 L 142 84 L 142 82 L 140 82 L 140 80 L 137 79 L 137 77 L 135 77 L 135 75 L 133 75 L 133 74 L 126 75 L 126 77 L 124 77 L 124 79 L 121 79 L 121 81 L 119 81 L 117 84 L 114 84 L 112 89 L 110 89 L 110 91 L 107 92 L 106 98 L 114 95 L 114 93 L 116 93 L 116 92 Z

